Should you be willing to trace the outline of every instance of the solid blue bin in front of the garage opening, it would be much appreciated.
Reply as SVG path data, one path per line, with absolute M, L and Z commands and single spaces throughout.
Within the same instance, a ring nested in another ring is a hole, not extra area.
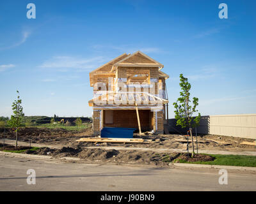
M 103 128 L 100 132 L 102 138 L 133 138 L 136 128 Z

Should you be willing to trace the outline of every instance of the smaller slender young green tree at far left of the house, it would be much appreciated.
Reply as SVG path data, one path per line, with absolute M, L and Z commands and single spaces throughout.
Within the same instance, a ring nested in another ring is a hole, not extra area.
M 23 108 L 21 106 L 21 99 L 19 96 L 19 91 L 17 91 L 17 94 L 18 94 L 17 100 L 15 100 L 12 103 L 13 115 L 11 115 L 11 119 L 8 120 L 8 124 L 11 126 L 11 128 L 15 128 L 15 132 L 16 132 L 15 149 L 17 149 L 17 146 L 18 146 L 18 130 L 21 126 L 22 117 L 24 117 Z

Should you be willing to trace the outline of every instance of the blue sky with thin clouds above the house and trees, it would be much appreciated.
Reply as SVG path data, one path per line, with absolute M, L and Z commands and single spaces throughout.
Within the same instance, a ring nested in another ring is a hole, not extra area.
M 27 4 L 36 18 L 26 17 Z M 218 5 L 228 5 L 220 19 Z M 170 118 L 179 74 L 202 115 L 256 113 L 255 1 L 0 2 L 0 115 L 16 90 L 25 115 L 91 116 L 89 72 L 145 52 L 164 64 Z

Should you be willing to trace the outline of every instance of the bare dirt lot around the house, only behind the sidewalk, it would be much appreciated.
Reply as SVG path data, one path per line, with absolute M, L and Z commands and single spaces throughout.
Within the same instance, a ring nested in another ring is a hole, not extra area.
M 76 142 L 79 138 L 92 137 L 92 128 L 83 131 L 67 131 L 66 129 L 56 128 L 20 128 L 19 141 L 31 143 L 45 143 L 49 145 L 63 145 L 76 148 L 90 146 L 114 146 L 114 147 L 151 147 L 151 148 L 170 148 L 183 149 L 186 142 L 184 135 L 143 135 L 134 134 L 134 138 L 143 138 L 152 140 L 152 143 L 93 143 L 93 142 Z M 15 132 L 6 129 L 4 135 L 3 129 L 0 129 L 0 138 L 15 139 Z M 196 140 L 195 137 L 194 142 Z M 177 141 L 178 140 L 178 141 Z M 189 140 L 191 138 L 189 137 Z M 215 140 L 212 141 L 212 140 Z M 255 150 L 253 145 L 241 145 L 241 142 L 254 142 L 254 139 L 237 138 L 232 136 L 219 135 L 200 135 L 198 136 L 198 149 L 207 150 Z M 218 143 L 217 143 L 218 142 Z M 230 144 L 223 144 L 226 142 Z M 195 144 L 196 145 L 196 144 Z M 189 143 L 191 148 L 191 143 Z

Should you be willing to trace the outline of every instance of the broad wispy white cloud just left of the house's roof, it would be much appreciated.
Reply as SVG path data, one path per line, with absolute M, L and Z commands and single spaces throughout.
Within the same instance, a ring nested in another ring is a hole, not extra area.
M 43 62 L 38 67 L 52 68 L 56 71 L 69 71 L 76 69 L 77 71 L 95 69 L 103 62 L 106 62 L 105 57 L 79 58 L 70 56 L 56 56 Z

